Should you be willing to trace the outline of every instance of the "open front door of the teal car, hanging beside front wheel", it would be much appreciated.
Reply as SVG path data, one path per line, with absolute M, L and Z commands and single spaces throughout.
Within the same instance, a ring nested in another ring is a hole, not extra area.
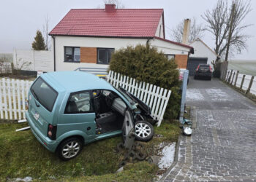
M 135 141 L 135 128 L 132 112 L 125 111 L 124 124 L 123 124 L 123 141 L 126 149 L 131 149 Z

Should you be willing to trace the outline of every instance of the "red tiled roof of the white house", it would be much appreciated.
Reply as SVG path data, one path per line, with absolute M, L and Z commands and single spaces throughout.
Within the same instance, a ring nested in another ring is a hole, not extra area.
M 154 37 L 163 9 L 71 9 L 50 35 Z

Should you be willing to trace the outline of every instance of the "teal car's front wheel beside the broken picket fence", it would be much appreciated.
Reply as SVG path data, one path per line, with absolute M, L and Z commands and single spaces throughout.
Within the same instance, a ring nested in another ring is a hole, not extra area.
M 149 122 L 135 122 L 135 139 L 137 141 L 150 141 L 153 135 L 154 127 Z

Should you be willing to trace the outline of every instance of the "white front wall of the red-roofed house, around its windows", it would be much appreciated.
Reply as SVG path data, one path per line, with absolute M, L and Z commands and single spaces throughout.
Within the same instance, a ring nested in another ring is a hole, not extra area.
M 53 39 L 52 39 L 53 41 Z M 147 39 L 121 39 L 121 38 L 96 38 L 96 37 L 78 37 L 78 36 L 56 36 L 56 71 L 70 71 L 76 68 L 108 68 L 108 65 L 94 63 L 67 63 L 64 62 L 64 47 L 105 47 L 119 50 L 127 46 L 136 46 L 146 44 Z M 157 47 L 159 51 L 165 54 L 187 55 L 189 48 L 181 47 L 169 42 L 152 39 L 151 46 Z M 53 45 L 53 42 L 52 42 Z

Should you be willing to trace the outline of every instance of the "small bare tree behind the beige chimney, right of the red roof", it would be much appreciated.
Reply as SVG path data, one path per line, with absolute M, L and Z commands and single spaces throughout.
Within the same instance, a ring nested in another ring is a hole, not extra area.
M 181 23 L 178 23 L 176 28 L 173 28 L 170 30 L 171 39 L 174 41 L 181 42 L 182 41 L 182 35 L 183 35 L 183 28 L 184 28 L 184 21 Z M 197 20 L 195 17 L 192 18 L 190 23 L 190 31 L 189 31 L 189 42 L 194 41 L 197 38 L 203 37 L 203 31 L 205 28 L 202 24 L 197 24 Z

